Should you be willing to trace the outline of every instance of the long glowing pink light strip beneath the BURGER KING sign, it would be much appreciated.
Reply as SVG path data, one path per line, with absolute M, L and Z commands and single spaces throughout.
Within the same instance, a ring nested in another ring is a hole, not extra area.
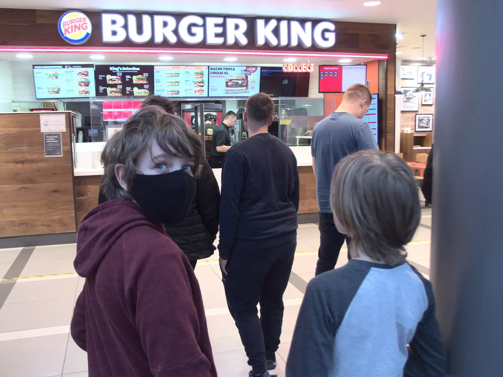
M 104 48 L 35 48 L 0 47 L 0 52 L 108 52 L 137 54 L 203 54 L 203 55 L 262 55 L 262 56 L 306 56 L 306 57 L 353 57 L 363 59 L 387 59 L 388 55 L 332 54 L 316 52 L 272 52 L 272 51 L 220 51 L 220 50 L 154 50 L 154 49 L 104 49 Z

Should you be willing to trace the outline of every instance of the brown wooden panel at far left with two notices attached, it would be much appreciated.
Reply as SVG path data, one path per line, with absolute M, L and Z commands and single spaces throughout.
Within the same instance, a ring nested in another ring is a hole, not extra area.
M 0 237 L 75 232 L 70 113 L 62 157 L 44 156 L 39 113 L 0 114 Z

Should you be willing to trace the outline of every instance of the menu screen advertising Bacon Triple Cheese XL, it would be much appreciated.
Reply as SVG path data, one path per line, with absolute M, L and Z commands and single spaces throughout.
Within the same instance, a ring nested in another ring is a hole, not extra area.
M 260 67 L 210 66 L 210 97 L 249 97 L 259 93 Z

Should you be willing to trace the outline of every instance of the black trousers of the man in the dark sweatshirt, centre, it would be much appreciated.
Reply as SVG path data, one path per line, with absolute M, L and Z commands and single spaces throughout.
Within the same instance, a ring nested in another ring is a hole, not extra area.
M 254 374 L 276 360 L 283 324 L 283 293 L 292 271 L 297 241 L 267 249 L 234 248 L 222 281 L 227 306 Z M 257 304 L 260 303 L 260 319 Z

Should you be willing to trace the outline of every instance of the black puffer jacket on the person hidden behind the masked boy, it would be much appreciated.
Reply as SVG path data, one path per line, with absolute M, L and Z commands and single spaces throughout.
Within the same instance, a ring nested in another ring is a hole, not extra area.
M 100 190 L 98 204 L 108 199 Z M 189 259 L 203 259 L 213 255 L 218 233 L 220 190 L 206 159 L 201 161 L 197 190 L 189 214 L 179 224 L 166 226 L 166 233 Z

